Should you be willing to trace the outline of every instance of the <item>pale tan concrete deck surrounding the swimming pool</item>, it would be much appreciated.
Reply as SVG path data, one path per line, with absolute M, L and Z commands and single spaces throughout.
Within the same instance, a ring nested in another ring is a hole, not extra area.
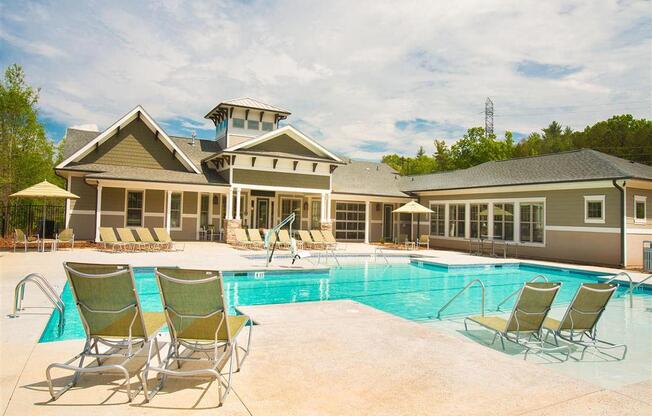
M 373 250 L 374 246 L 363 244 L 347 247 L 348 252 L 356 253 Z M 216 243 L 189 243 L 184 252 L 174 253 L 0 253 L 0 406 L 4 414 L 176 414 L 190 409 L 224 415 L 652 412 L 652 368 L 647 378 L 643 367 L 643 375 L 639 368 L 635 382 L 605 386 L 587 381 L 587 377 L 574 377 L 575 370 L 564 374 L 554 368 L 559 366 L 537 359 L 524 361 L 488 348 L 482 340 L 461 336 L 454 320 L 415 323 L 351 301 L 243 307 L 259 324 L 254 329 L 252 353 L 242 372 L 234 376 L 234 392 L 217 410 L 216 386 L 206 391 L 209 383 L 203 380 L 170 382 L 150 404 L 143 404 L 142 396 L 128 404 L 122 388 L 109 376 L 82 377 L 83 388 L 49 403 L 45 367 L 78 352 L 82 342 L 37 343 L 51 308 L 33 288 L 28 288 L 25 304 L 43 309 L 30 308 L 17 319 L 5 317 L 11 312 L 15 284 L 29 272 L 44 274 L 61 290 L 65 284 L 62 261 L 242 270 L 262 267 L 260 260 L 243 254 Z M 448 264 L 503 262 L 438 250 L 419 254 Z M 314 267 L 303 261 L 300 264 Z M 279 261 L 278 266 L 288 267 L 289 260 Z M 642 275 L 632 277 L 640 279 Z M 637 313 L 650 315 L 645 307 Z M 649 360 L 632 363 L 649 366 Z

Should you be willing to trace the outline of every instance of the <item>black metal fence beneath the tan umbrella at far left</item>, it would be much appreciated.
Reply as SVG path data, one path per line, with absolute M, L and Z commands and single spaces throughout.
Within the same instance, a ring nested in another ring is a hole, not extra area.
M 45 214 L 45 224 L 43 215 Z M 0 232 L 10 236 L 14 228 L 27 235 L 53 238 L 66 224 L 66 207 L 63 204 L 10 203 L 0 204 Z M 43 226 L 45 225 L 45 235 Z

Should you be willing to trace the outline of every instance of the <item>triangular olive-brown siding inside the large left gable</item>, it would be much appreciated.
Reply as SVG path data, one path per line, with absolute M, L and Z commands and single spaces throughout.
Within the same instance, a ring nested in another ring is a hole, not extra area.
M 138 166 L 185 172 L 184 166 L 154 136 L 141 120 L 134 120 L 120 132 L 92 150 L 80 163 Z

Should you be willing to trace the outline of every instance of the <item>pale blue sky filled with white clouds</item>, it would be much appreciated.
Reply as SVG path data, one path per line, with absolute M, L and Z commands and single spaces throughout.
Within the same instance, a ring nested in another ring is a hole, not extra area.
M 484 126 L 516 138 L 652 118 L 650 1 L 7 1 L 0 63 L 40 88 L 48 135 L 142 105 L 168 134 L 253 97 L 332 151 L 433 152 Z

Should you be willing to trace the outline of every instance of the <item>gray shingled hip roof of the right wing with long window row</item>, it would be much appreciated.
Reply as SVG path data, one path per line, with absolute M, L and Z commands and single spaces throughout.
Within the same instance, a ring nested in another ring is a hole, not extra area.
M 406 192 L 604 179 L 652 180 L 652 166 L 591 149 L 486 162 L 450 172 L 401 178 Z

